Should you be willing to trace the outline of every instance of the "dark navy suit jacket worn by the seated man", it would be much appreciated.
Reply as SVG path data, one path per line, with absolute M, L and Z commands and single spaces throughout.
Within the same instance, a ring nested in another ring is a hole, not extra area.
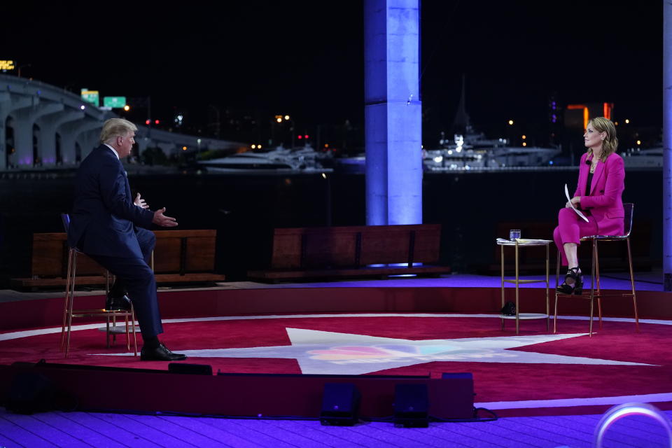
M 81 163 L 75 182 L 68 243 L 84 253 L 143 258 L 134 225 L 150 228 L 154 214 L 133 204 L 120 160 L 106 145 Z

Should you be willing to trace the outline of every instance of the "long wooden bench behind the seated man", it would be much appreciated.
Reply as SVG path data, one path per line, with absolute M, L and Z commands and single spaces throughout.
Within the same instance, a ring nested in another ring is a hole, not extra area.
M 154 248 L 157 283 L 224 281 L 214 274 L 216 230 L 158 230 Z M 64 286 L 68 269 L 65 233 L 33 235 L 31 277 L 11 279 L 13 287 Z M 105 283 L 104 269 L 86 255 L 77 258 L 77 284 Z

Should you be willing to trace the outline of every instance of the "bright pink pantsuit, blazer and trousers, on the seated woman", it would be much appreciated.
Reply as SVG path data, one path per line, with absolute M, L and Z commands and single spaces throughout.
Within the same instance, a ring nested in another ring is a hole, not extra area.
M 563 244 L 580 244 L 580 238 L 588 235 L 623 235 L 623 201 L 625 188 L 625 169 L 620 155 L 612 153 L 605 162 L 597 162 L 593 180 L 590 183 L 590 195 L 586 196 L 586 183 L 590 170 L 590 161 L 585 153 L 579 165 L 579 181 L 574 196 L 581 197 L 581 209 L 587 210 L 585 222 L 572 209 L 561 209 L 558 214 L 558 227 L 553 232 L 562 264 L 567 265 Z M 569 266 L 573 267 L 573 266 Z

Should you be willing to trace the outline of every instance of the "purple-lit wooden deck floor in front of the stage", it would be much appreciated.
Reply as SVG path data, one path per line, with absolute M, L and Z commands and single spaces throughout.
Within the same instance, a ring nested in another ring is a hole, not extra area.
M 668 418 L 672 412 L 665 413 Z M 392 423 L 351 427 L 318 421 L 48 412 L 10 414 L 0 408 L 1 448 L 42 447 L 592 447 L 601 416 L 511 417 L 470 423 L 395 428 Z M 608 431 L 605 447 L 666 447 L 664 428 L 629 416 Z

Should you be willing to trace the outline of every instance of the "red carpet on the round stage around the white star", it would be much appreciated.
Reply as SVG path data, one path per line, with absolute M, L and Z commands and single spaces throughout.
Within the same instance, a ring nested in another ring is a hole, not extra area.
M 672 353 L 666 341 L 672 336 L 672 326 L 662 323 L 642 323 L 640 332 L 631 322 L 605 321 L 603 330 L 589 338 L 587 335 L 530 343 L 510 349 L 456 349 L 454 343 L 468 339 L 515 339 L 512 321 L 500 330 L 498 318 L 486 317 L 309 317 L 309 318 L 227 318 L 222 321 L 187 321 L 165 324 L 163 340 L 174 351 L 201 349 L 242 349 L 269 347 L 269 353 L 292 344 L 287 328 L 315 330 L 346 335 L 365 335 L 396 339 L 389 343 L 378 341 L 367 346 L 362 342 L 323 347 L 300 347 L 311 362 L 323 365 L 323 372 L 338 373 L 342 368 L 367 367 L 370 373 L 395 375 L 430 374 L 442 372 L 472 372 L 476 402 L 518 400 L 557 400 L 572 398 L 613 397 L 672 392 Z M 189 320 L 189 319 L 185 319 Z M 543 321 L 521 322 L 521 337 L 546 337 Z M 587 322 L 562 319 L 559 332 L 577 335 L 587 332 Z M 597 325 L 596 325 L 597 326 Z M 321 333 L 309 332 L 319 339 Z M 3 339 L 12 333 L 0 335 Z M 78 330 L 72 333 L 71 357 L 65 360 L 57 349 L 59 333 L 32 335 L 0 341 L 0 363 L 35 362 L 44 358 L 51 363 L 75 363 L 115 367 L 167 368 L 167 363 L 141 362 L 132 356 L 104 356 L 99 353 L 123 353 L 124 337 L 118 337 L 116 347 L 106 349 L 104 334 L 99 330 Z M 399 339 L 422 341 L 441 339 L 414 351 L 400 344 Z M 449 339 L 445 341 L 443 339 Z M 141 339 L 139 339 L 141 341 Z M 315 342 L 321 343 L 319 340 Z M 444 344 L 441 346 L 440 344 Z M 447 345 L 446 345 L 447 344 Z M 451 345 L 453 344 L 453 345 Z M 296 342 L 295 342 L 295 345 Z M 449 348 L 447 348 L 449 347 Z M 506 356 L 545 353 L 580 357 L 575 363 L 484 362 L 506 360 Z M 281 349 L 275 358 L 236 358 L 241 353 L 198 357 L 190 353 L 188 362 L 210 364 L 213 370 L 254 373 L 315 373 L 302 372 L 300 363 Z M 501 354 L 503 353 L 503 354 Z M 268 353 L 262 356 L 269 356 Z M 270 356 L 273 356 L 272 354 Z M 288 358 L 281 358 L 288 356 Z M 388 362 L 411 359 L 412 365 L 385 367 Z M 436 359 L 443 356 L 444 358 Z M 498 358 L 499 356 L 499 358 Z M 589 365 L 584 358 L 649 365 Z M 316 360 L 317 361 L 314 361 Z M 335 362 L 336 361 L 336 362 Z M 345 366 L 345 367 L 344 367 Z M 666 402 L 657 406 L 667 408 Z

